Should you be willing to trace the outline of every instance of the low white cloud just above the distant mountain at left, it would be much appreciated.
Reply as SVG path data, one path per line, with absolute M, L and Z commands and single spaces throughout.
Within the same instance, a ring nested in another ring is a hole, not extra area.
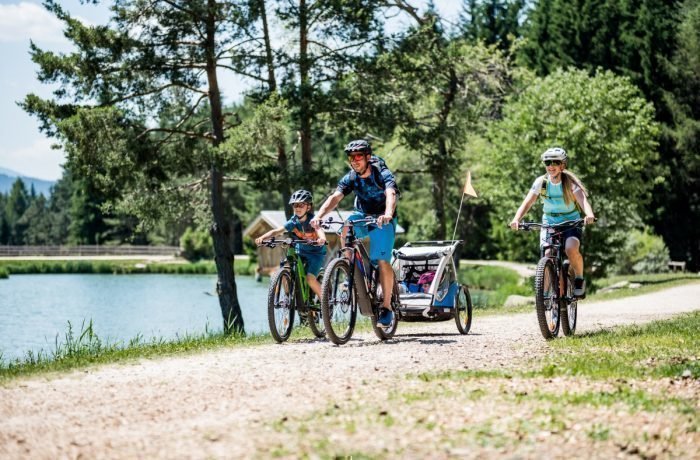
M 62 150 L 52 149 L 52 144 L 50 139 L 40 138 L 29 147 L 12 151 L 0 149 L 0 166 L 36 179 L 59 179 L 66 156 Z

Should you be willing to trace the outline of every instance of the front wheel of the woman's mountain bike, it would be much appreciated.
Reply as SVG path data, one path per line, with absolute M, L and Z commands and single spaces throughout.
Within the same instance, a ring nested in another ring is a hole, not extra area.
M 535 308 L 542 336 L 553 339 L 559 334 L 559 290 L 554 263 L 546 257 L 540 259 L 535 271 Z

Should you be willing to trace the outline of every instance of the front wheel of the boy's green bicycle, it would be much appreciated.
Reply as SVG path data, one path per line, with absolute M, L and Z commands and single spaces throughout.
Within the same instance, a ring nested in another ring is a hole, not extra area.
M 289 338 L 294 326 L 294 289 L 288 268 L 277 271 L 267 292 L 267 323 L 277 343 Z

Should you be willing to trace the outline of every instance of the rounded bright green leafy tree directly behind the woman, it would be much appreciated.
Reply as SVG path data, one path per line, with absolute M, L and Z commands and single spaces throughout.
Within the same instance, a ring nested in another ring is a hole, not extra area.
M 537 257 L 537 235 L 511 232 L 506 223 L 545 172 L 541 152 L 560 145 L 600 219 L 586 228 L 584 253 L 586 266 L 599 267 L 596 275 L 602 276 L 615 248 L 639 225 L 654 182 L 660 180 L 654 168 L 658 134 L 653 107 L 626 78 L 570 70 L 534 80 L 509 101 L 503 120 L 491 126 L 491 146 L 479 161 L 483 193 L 494 206 L 492 237 L 501 257 Z M 540 209 L 538 203 L 536 215 Z

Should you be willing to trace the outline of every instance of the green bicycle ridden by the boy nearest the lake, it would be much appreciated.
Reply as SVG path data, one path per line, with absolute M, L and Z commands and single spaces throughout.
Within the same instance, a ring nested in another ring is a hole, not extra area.
M 263 240 L 260 244 L 268 248 L 277 246 L 287 248 L 281 268 L 270 279 L 270 288 L 267 293 L 267 322 L 272 338 L 277 343 L 286 341 L 291 335 L 295 312 L 299 312 L 300 325 L 308 324 L 316 337 L 323 338 L 326 335 L 321 317 L 321 301 L 311 291 L 306 281 L 304 262 L 295 247 L 297 243 L 316 244 L 313 240 L 292 238 L 270 238 Z M 318 275 L 319 282 L 322 279 L 323 270 Z

